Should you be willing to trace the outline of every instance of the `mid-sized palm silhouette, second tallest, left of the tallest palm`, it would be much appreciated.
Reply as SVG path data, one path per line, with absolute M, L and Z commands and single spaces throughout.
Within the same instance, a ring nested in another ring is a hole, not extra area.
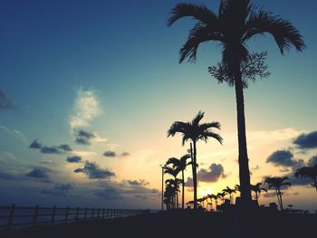
M 222 144 L 220 135 L 214 133 L 211 129 L 220 129 L 220 123 L 213 121 L 210 123 L 199 124 L 200 120 L 204 118 L 204 112 L 199 111 L 197 116 L 192 121 L 182 122 L 175 121 L 170 129 L 168 129 L 168 137 L 174 137 L 177 133 L 183 136 L 182 144 L 185 145 L 187 140 L 193 142 L 193 157 L 192 157 L 192 170 L 193 170 L 193 186 L 194 186 L 194 209 L 197 209 L 197 141 L 204 140 L 207 143 L 208 138 L 216 138 Z

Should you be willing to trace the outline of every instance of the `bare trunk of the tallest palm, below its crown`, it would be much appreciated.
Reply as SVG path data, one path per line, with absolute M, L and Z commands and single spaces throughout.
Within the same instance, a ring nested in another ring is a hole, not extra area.
M 244 89 L 241 80 L 240 63 L 237 64 L 238 69 L 235 71 L 235 100 L 237 112 L 237 130 L 239 144 L 239 179 L 241 198 L 245 205 L 251 205 L 252 197 L 250 190 L 250 170 L 246 149 L 245 137 L 245 99 Z

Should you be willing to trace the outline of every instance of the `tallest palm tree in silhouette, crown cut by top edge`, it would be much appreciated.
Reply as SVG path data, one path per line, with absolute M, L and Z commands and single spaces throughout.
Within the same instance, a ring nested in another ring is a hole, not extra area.
M 178 4 L 171 10 L 168 26 L 183 17 L 193 17 L 197 24 L 190 30 L 187 42 L 179 51 L 179 63 L 185 59 L 196 62 L 197 49 L 201 43 L 217 42 L 222 46 L 222 62 L 229 75 L 226 82 L 229 86 L 235 86 L 241 196 L 246 205 L 251 204 L 245 137 L 244 88 L 247 81 L 244 81 L 241 72 L 243 62 L 247 62 L 250 56 L 246 43 L 255 35 L 270 33 L 282 54 L 292 46 L 302 52 L 305 47 L 303 36 L 293 24 L 262 8 L 258 10 L 250 0 L 221 0 L 218 14 L 206 5 Z

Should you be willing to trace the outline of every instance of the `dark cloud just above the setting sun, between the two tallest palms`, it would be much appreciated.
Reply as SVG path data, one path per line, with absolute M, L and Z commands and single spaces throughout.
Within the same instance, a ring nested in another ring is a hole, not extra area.
M 215 183 L 218 179 L 226 178 L 224 167 L 220 164 L 212 164 L 208 169 L 202 168 L 197 173 L 197 181 Z

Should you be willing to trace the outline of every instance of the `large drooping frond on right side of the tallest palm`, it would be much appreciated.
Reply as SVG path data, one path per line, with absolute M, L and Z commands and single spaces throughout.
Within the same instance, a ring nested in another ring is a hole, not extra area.
M 292 46 L 302 52 L 305 48 L 303 36 L 290 22 L 266 11 L 250 14 L 245 25 L 246 31 L 242 42 L 246 42 L 255 34 L 270 33 L 280 48 L 281 53 L 289 51 Z

